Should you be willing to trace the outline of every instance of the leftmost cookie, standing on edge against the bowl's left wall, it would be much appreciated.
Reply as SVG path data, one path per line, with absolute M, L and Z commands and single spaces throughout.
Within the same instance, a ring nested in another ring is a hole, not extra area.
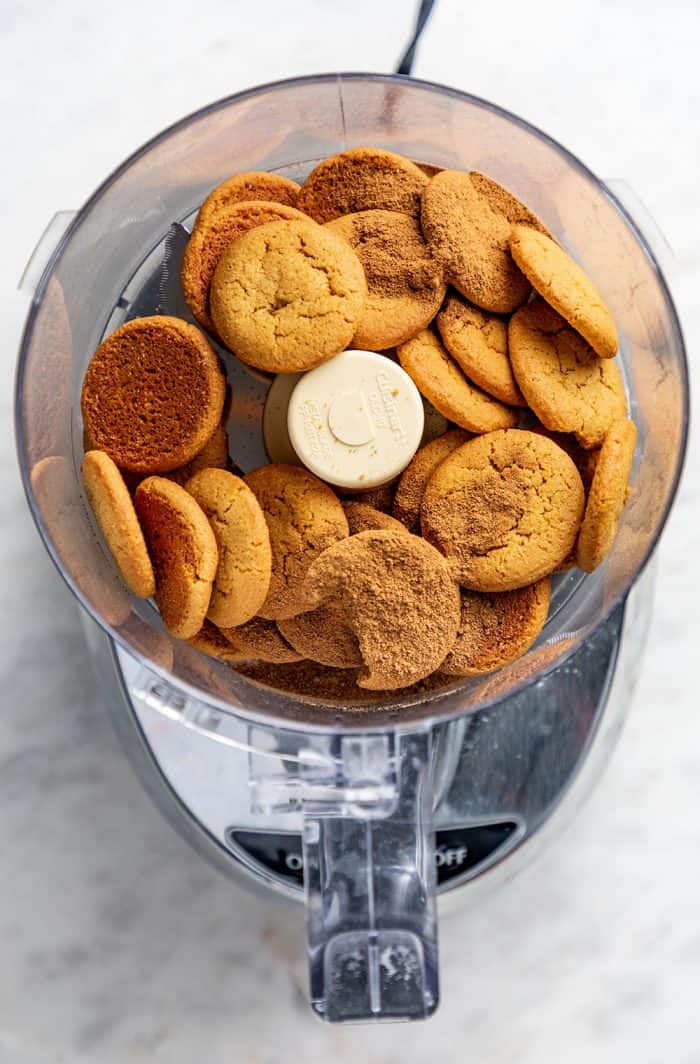
M 104 451 L 88 451 L 82 472 L 85 494 L 121 579 L 136 598 L 151 598 L 153 566 L 121 473 Z

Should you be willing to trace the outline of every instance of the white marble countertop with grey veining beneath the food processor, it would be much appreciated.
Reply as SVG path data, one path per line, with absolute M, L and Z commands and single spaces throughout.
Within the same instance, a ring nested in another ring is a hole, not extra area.
M 386 70 L 405 0 L 6 0 L 0 13 L 0 1062 L 695 1064 L 700 1059 L 700 717 L 691 648 L 700 462 L 661 546 L 649 650 L 617 752 L 567 835 L 446 921 L 443 1003 L 412 1027 L 307 1010 L 301 914 L 236 892 L 145 796 L 100 706 L 76 606 L 15 470 L 14 289 L 45 222 L 205 102 L 317 70 Z M 626 177 L 677 255 L 700 345 L 695 0 L 441 0 L 419 77 L 469 89 Z M 164 13 L 167 12 L 167 16 Z

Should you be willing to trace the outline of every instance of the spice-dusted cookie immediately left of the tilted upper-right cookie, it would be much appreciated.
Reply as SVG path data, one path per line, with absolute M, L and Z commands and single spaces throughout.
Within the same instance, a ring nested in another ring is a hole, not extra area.
M 420 223 L 445 278 L 470 302 L 507 314 L 530 295 L 530 281 L 509 250 L 511 228 L 539 219 L 483 173 L 443 170 L 422 196 Z

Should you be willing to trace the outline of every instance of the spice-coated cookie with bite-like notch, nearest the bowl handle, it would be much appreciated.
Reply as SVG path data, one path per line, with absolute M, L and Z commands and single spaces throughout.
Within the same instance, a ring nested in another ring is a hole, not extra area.
M 404 531 L 361 532 L 329 547 L 304 598 L 344 610 L 364 662 L 357 683 L 390 691 L 430 676 L 454 644 L 460 592 L 447 561 Z

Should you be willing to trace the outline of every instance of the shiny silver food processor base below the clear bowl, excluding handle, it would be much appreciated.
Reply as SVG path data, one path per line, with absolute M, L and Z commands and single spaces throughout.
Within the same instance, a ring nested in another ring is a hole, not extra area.
M 653 568 L 563 664 L 515 695 L 435 725 L 443 899 L 462 897 L 466 884 L 490 888 L 516 871 L 589 791 L 638 676 Z M 263 743 L 261 728 L 194 703 L 91 621 L 86 631 L 116 731 L 156 805 L 233 879 L 302 901 L 302 814 L 270 812 L 254 797 L 256 751 L 264 745 L 264 757 L 277 760 L 286 729 L 265 728 Z

